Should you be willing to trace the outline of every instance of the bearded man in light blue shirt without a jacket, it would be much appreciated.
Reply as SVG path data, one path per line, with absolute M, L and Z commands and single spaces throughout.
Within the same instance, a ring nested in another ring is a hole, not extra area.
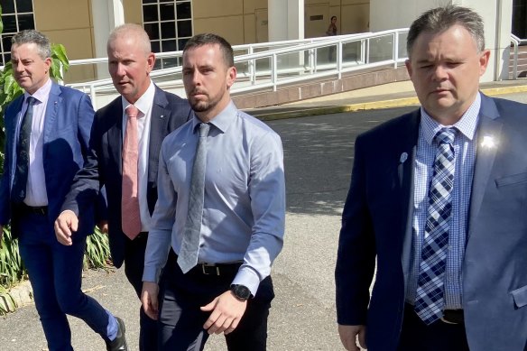
M 284 232 L 282 142 L 236 109 L 229 95 L 235 79 L 228 42 L 214 34 L 190 39 L 183 82 L 194 116 L 162 143 L 143 273 L 143 308 L 160 319 L 162 350 L 200 350 L 208 334 L 222 332 L 229 349 L 266 347 L 274 296 L 269 274 Z M 178 256 L 193 207 L 190 184 L 202 124 L 208 135 L 199 249 L 197 264 L 186 272 Z

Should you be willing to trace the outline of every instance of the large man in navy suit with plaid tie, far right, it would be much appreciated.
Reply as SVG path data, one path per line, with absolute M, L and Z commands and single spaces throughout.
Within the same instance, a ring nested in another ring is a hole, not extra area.
M 483 20 L 456 5 L 411 24 L 421 108 L 356 139 L 337 253 L 347 350 L 527 345 L 527 106 L 479 92 Z M 370 283 L 376 274 L 370 297 Z

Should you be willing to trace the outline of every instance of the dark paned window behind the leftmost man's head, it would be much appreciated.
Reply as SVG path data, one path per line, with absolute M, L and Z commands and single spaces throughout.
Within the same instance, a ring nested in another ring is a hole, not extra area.
M 2 64 L 11 60 L 11 38 L 16 32 L 35 29 L 32 0 L 0 0 L 2 6 Z

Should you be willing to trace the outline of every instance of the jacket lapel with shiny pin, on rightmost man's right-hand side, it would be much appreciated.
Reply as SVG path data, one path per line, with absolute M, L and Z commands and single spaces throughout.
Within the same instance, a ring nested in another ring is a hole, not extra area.
M 485 189 L 490 178 L 495 162 L 497 147 L 490 147 L 484 140 L 491 138 L 499 145 L 503 124 L 499 120 L 499 112 L 495 102 L 482 94 L 481 109 L 479 114 L 479 125 L 477 127 L 476 140 L 476 164 L 474 168 L 474 179 L 472 180 L 472 191 L 470 198 L 470 210 L 468 217 L 468 230 L 476 220 L 481 202 L 485 196 Z

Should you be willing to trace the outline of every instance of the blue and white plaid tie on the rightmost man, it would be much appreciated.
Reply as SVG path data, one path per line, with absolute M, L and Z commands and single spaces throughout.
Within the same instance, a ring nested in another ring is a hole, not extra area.
M 448 232 L 452 209 L 456 129 L 443 128 L 434 140 L 439 144 L 430 182 L 428 217 L 421 250 L 415 311 L 427 325 L 443 316 L 444 275 L 447 266 Z

